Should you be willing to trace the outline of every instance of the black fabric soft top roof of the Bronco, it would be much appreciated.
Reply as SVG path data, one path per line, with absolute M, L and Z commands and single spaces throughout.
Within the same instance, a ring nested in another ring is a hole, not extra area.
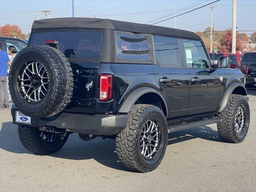
M 36 20 L 33 23 L 33 29 L 49 29 L 49 28 L 90 28 L 90 29 L 110 29 L 134 33 L 148 33 L 166 36 L 176 36 L 201 40 L 200 36 L 194 32 L 179 30 L 168 27 L 160 27 L 154 25 L 138 24 L 131 22 L 116 21 L 110 19 L 98 18 L 54 18 Z

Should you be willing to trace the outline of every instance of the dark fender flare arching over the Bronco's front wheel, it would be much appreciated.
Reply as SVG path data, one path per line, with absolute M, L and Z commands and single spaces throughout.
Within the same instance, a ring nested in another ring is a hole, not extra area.
M 244 91 L 246 92 L 246 89 L 244 88 L 244 86 L 238 82 L 233 82 L 231 83 L 228 88 L 226 89 L 223 97 L 222 97 L 222 100 L 220 102 L 220 109 L 218 112 L 222 112 L 224 110 L 224 108 L 226 107 L 227 103 L 228 103 L 228 100 L 230 98 L 230 95 L 232 94 L 232 92 L 235 90 L 235 88 L 237 87 L 242 87 L 244 89 Z M 249 100 L 249 97 L 247 96 L 247 92 L 246 92 L 246 99 L 247 101 Z

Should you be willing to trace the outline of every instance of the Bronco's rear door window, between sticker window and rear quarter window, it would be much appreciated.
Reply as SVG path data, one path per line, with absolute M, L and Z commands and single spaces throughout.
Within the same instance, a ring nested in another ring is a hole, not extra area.
M 178 39 L 153 36 L 156 64 L 161 67 L 181 67 Z

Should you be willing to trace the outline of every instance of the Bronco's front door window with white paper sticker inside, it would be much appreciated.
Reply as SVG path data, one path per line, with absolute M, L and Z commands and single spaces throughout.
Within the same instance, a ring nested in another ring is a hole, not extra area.
M 188 68 L 209 68 L 208 58 L 200 41 L 183 39 Z

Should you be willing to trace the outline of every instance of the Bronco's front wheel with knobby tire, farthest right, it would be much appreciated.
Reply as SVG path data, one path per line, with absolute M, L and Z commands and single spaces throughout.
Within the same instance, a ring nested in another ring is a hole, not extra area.
M 250 108 L 246 98 L 232 94 L 226 108 L 218 114 L 218 134 L 226 142 L 240 143 L 246 137 L 250 123 Z

